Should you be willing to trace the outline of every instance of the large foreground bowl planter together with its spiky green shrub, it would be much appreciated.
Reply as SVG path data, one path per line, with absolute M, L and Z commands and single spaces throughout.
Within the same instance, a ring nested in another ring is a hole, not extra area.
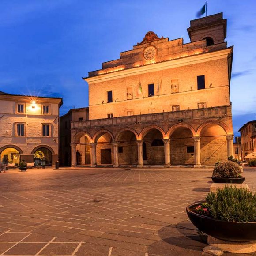
M 187 207 L 191 222 L 203 233 L 233 242 L 256 240 L 256 194 L 235 185 L 209 193 L 205 202 Z

